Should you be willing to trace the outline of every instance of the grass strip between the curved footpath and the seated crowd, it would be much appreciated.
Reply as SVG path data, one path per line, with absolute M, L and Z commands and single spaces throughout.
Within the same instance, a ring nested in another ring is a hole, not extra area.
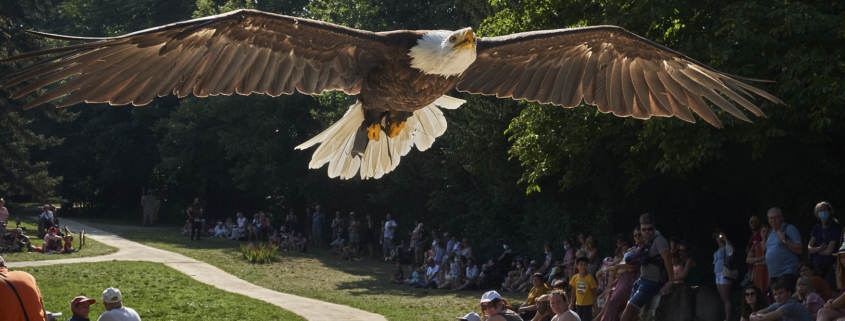
M 243 280 L 279 292 L 344 304 L 384 315 L 389 320 L 454 320 L 470 311 L 483 291 L 424 290 L 389 284 L 395 266 L 376 260 L 344 261 L 328 250 L 309 253 L 281 252 L 272 264 L 244 262 L 239 243 L 204 238 L 191 242 L 179 230 L 127 230 L 122 236 L 156 248 L 205 261 Z M 407 269 L 407 267 L 406 267 Z M 520 304 L 526 293 L 503 293 L 511 304 Z

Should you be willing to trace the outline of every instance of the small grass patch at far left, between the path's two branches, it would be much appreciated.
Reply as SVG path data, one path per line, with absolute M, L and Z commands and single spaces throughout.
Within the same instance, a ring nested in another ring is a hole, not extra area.
M 12 216 L 14 217 L 14 216 Z M 15 222 L 10 217 L 9 220 L 9 228 L 13 228 L 15 226 Z M 59 221 L 61 222 L 61 221 Z M 29 236 L 29 240 L 33 246 L 40 247 L 41 244 L 44 243 L 44 239 L 38 239 L 38 221 L 21 217 L 21 227 L 26 227 L 26 231 L 24 231 L 24 235 Z M 73 247 L 76 249 L 79 248 L 79 231 L 71 231 L 76 237 L 73 240 Z M 57 260 L 57 259 L 69 259 L 75 257 L 86 257 L 86 256 L 98 256 L 98 255 L 105 255 L 117 252 L 117 249 L 103 243 L 97 242 L 92 240 L 91 238 L 86 237 L 85 246 L 83 246 L 79 252 L 71 253 L 71 254 L 43 254 L 43 253 L 34 253 L 34 252 L 17 252 L 17 253 L 3 253 L 0 254 L 3 256 L 3 259 L 6 262 L 23 262 L 23 261 L 44 261 L 44 260 Z

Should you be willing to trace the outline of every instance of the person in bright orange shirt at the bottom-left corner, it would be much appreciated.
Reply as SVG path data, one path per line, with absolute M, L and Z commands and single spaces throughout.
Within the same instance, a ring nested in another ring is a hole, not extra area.
M 14 288 L 14 289 L 13 289 Z M 3 321 L 46 320 L 47 311 L 35 278 L 24 271 L 10 272 L 0 256 L 0 318 Z

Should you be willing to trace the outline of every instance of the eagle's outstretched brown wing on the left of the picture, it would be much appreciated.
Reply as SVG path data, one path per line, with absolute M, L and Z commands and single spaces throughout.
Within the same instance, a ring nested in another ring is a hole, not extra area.
M 171 92 L 179 97 L 190 92 L 200 97 L 233 92 L 278 96 L 294 89 L 305 94 L 332 89 L 357 94 L 366 71 L 391 50 L 376 33 L 255 10 L 114 38 L 31 33 L 91 42 L 0 60 L 57 54 L 17 72 L 4 84 L 9 87 L 43 76 L 15 93 L 13 99 L 73 77 L 26 108 L 71 92 L 59 107 L 83 101 L 144 105 Z

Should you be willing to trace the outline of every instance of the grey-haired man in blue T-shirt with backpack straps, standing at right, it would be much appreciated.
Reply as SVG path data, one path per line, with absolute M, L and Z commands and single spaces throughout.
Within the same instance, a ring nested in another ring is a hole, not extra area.
M 777 207 L 772 207 L 766 217 L 772 227 L 766 240 L 769 284 L 780 281 L 789 292 L 795 292 L 795 283 L 798 281 L 798 256 L 804 250 L 801 234 L 794 225 L 783 222 L 783 212 Z

